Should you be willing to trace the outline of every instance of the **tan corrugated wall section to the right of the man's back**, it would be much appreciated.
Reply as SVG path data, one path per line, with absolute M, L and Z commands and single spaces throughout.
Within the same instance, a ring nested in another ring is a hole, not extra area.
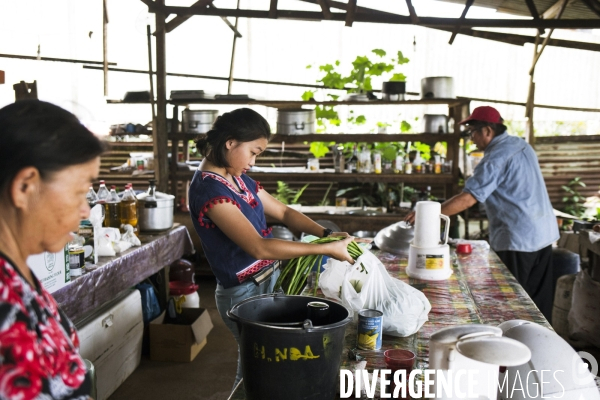
M 562 185 L 575 177 L 586 184 L 585 196 L 598 194 L 600 186 L 600 136 L 552 136 L 536 138 L 535 150 L 554 208 L 562 209 Z

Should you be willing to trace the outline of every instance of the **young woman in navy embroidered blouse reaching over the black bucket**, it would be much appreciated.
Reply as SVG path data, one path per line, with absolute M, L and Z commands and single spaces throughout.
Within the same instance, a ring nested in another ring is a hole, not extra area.
M 287 207 L 245 173 L 271 137 L 267 121 L 249 108 L 220 116 L 196 143 L 204 156 L 190 185 L 190 214 L 202 248 L 217 278 L 215 299 L 221 318 L 239 344 L 237 326 L 226 312 L 251 296 L 270 293 L 279 276 L 277 260 L 324 254 L 353 262 L 346 247 L 352 240 L 310 244 L 274 239 L 266 217 L 318 237 L 331 235 L 304 214 Z M 234 388 L 242 377 L 238 369 Z

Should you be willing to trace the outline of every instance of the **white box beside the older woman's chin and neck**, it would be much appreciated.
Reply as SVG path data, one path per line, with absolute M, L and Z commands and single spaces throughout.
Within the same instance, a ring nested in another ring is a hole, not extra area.
M 69 270 L 69 249 L 67 246 L 58 253 L 43 252 L 27 258 L 27 265 L 42 282 L 44 288 L 52 293 L 71 282 Z

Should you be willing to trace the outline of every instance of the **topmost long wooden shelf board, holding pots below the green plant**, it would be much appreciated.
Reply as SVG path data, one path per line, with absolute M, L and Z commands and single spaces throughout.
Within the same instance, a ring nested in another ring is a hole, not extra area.
M 116 104 L 119 100 L 107 100 Z M 122 101 L 121 101 L 122 102 Z M 169 100 L 170 104 L 185 106 L 189 104 L 233 104 L 233 105 L 261 105 L 266 107 L 274 108 L 298 108 L 306 105 L 321 105 L 321 106 L 372 106 L 372 105 L 408 105 L 408 104 L 445 104 L 449 106 L 459 105 L 467 103 L 468 100 L 464 99 L 415 99 L 415 100 L 403 100 L 403 101 L 387 101 L 387 100 L 369 100 L 369 101 L 357 101 L 357 100 L 346 100 L 346 101 L 302 101 L 302 100 L 211 100 L 211 99 L 198 99 L 198 100 Z

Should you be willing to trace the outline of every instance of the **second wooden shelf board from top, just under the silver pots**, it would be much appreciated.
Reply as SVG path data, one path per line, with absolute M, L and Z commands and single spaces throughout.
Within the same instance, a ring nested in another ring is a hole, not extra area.
M 170 133 L 171 140 L 195 140 L 203 134 Z M 271 136 L 271 143 L 302 143 L 302 142 L 448 142 L 459 140 L 457 134 L 440 133 L 311 133 L 308 135 L 279 135 Z

